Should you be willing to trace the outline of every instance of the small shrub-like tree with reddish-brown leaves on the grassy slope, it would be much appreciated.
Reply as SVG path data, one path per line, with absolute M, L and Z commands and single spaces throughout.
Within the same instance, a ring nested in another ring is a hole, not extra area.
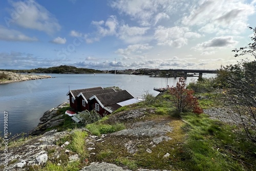
M 186 89 L 186 83 L 183 77 L 179 78 L 176 87 L 170 88 L 169 92 L 172 95 L 171 100 L 174 102 L 178 112 L 193 111 L 197 114 L 203 113 L 197 98 L 193 96 L 194 91 Z

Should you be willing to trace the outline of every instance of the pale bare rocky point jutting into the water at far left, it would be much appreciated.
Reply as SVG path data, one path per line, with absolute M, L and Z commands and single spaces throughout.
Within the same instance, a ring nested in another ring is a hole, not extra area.
M 6 77 L 4 79 L 0 79 L 0 84 L 28 81 L 28 80 L 34 80 L 34 79 L 52 78 L 50 75 L 17 74 L 17 73 L 8 72 L 8 71 L 0 71 L 0 74 Z

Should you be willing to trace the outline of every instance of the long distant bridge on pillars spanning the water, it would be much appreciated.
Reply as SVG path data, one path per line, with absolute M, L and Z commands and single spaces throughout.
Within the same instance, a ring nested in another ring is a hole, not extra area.
M 174 78 L 177 78 L 177 73 L 178 72 L 183 72 L 184 77 L 187 77 L 187 73 L 199 73 L 199 78 L 203 77 L 203 73 L 208 73 L 208 74 L 216 74 L 217 70 L 187 70 L 187 69 L 170 69 L 170 70 L 147 70 L 149 72 L 161 72 L 165 71 L 166 73 L 172 73 Z

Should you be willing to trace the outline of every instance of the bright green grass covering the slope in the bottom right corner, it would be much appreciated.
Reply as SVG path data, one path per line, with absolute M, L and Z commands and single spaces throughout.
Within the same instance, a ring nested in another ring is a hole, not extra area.
M 245 170 L 253 168 L 247 163 L 256 164 L 253 154 L 256 144 L 235 134 L 234 127 L 211 120 L 204 114 L 189 113 L 182 118 L 187 122 L 184 129 L 188 137 L 183 147 L 188 170 Z

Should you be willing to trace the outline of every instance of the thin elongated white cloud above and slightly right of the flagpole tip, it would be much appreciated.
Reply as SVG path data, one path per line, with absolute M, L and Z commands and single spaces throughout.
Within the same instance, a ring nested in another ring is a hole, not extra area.
M 130 55 L 133 52 L 141 53 L 143 50 L 152 49 L 152 46 L 148 44 L 136 44 L 136 45 L 129 45 L 126 49 L 118 49 L 115 53 L 120 55 Z

